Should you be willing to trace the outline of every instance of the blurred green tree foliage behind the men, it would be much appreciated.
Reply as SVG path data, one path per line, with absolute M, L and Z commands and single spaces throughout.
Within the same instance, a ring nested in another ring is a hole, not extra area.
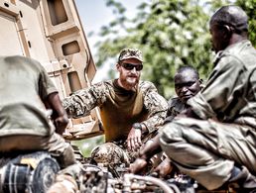
M 249 5 L 245 3 L 247 1 L 240 1 L 255 17 L 255 0 L 250 0 Z M 154 82 L 166 98 L 174 94 L 174 75 L 179 66 L 192 65 L 201 78 L 207 77 L 213 56 L 208 20 L 212 12 L 229 3 L 228 0 L 145 1 L 132 19 L 125 16 L 126 9 L 119 2 L 106 0 L 116 20 L 102 28 L 101 36 L 105 37 L 105 41 L 97 45 L 98 65 L 109 57 L 117 59 L 122 48 L 140 48 L 144 53 L 142 79 Z M 255 20 L 253 25 L 255 27 Z M 255 40 L 255 35 L 252 38 Z

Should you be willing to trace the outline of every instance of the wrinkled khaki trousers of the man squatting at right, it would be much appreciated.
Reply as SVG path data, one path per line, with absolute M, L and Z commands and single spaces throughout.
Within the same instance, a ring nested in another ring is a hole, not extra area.
M 256 131 L 239 124 L 177 118 L 160 134 L 172 162 L 208 190 L 230 177 L 234 164 L 256 174 Z

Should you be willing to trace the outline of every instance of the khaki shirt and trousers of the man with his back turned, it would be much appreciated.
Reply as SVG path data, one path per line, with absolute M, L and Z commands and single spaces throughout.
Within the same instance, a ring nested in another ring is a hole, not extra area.
M 45 149 L 63 155 L 69 145 L 55 133 L 42 102 L 54 92 L 55 85 L 38 61 L 0 57 L 0 152 Z

